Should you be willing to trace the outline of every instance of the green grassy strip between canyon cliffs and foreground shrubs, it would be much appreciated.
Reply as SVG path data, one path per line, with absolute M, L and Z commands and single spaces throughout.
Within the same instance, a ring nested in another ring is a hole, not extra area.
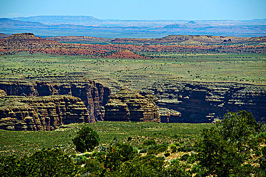
M 201 137 L 201 130 L 213 124 L 154 123 L 154 122 L 97 122 L 90 124 L 63 125 L 54 131 L 8 131 L 0 130 L 0 155 L 25 155 L 43 148 L 59 148 L 66 153 L 74 153 L 71 141 L 77 130 L 89 126 L 100 136 L 100 144 L 117 139 L 139 146 L 146 139 L 158 143 L 194 142 Z M 128 137 L 132 140 L 128 141 Z

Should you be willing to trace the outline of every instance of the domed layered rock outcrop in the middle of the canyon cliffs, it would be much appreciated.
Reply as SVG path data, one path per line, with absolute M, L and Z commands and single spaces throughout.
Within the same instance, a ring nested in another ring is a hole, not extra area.
M 160 122 L 158 108 L 151 95 L 144 97 L 123 89 L 109 98 L 105 105 L 106 121 Z

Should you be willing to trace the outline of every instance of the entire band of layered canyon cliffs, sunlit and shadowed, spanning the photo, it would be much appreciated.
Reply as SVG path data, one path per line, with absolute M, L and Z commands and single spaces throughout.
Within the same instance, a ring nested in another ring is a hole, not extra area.
M 265 118 L 265 85 L 238 82 L 157 82 L 137 92 L 108 87 L 78 76 L 0 81 L 0 128 L 52 130 L 96 121 L 210 123 L 227 111 Z M 66 96 L 67 95 L 67 96 Z M 11 106 L 7 106 L 11 105 Z

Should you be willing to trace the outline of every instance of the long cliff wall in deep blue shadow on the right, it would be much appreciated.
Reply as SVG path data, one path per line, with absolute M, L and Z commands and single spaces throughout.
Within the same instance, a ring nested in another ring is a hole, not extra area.
M 173 81 L 156 83 L 141 94 L 153 94 L 160 108 L 180 112 L 172 122 L 212 122 L 227 111 L 238 110 L 250 111 L 256 120 L 266 117 L 265 85 Z

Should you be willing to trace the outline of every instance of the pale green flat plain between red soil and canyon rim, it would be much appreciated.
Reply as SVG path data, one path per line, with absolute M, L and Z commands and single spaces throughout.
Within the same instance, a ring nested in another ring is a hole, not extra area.
M 0 77 L 81 74 L 106 84 L 140 90 L 165 80 L 266 83 L 264 54 L 164 54 L 150 60 L 17 54 L 0 57 Z

